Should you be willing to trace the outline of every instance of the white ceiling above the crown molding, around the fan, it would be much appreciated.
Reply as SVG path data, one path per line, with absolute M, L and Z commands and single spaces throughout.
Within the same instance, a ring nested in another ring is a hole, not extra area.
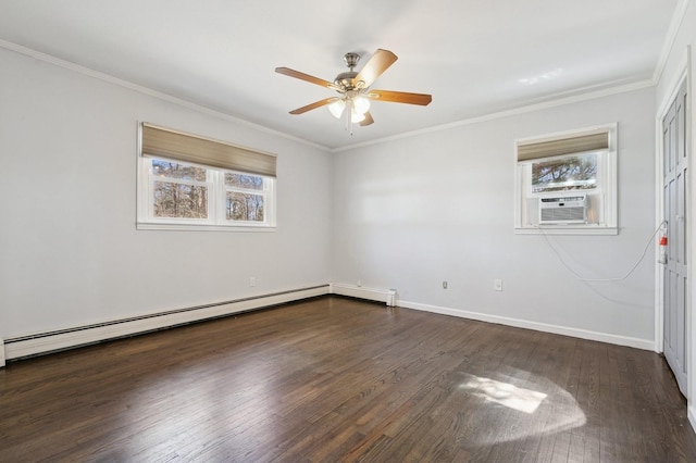
M 552 99 L 650 82 L 680 0 L 0 0 L 0 40 L 337 149 Z M 7 43 L 5 43 L 7 46 Z M 399 60 L 355 127 L 325 108 L 343 55 Z M 156 121 L 153 121 L 156 122 Z

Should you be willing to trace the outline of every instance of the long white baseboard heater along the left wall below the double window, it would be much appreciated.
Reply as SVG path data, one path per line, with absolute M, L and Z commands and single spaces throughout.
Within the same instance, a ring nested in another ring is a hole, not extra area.
M 4 349 L 0 349 L 2 352 L 0 353 L 0 360 L 2 361 L 0 366 L 4 364 L 5 358 L 8 360 L 20 359 L 108 339 L 137 335 L 139 333 L 147 333 L 156 329 L 199 322 L 207 318 L 263 309 L 286 302 L 328 295 L 330 289 L 330 285 L 322 285 L 312 288 L 283 291 L 236 301 L 181 309 L 159 314 L 145 315 L 141 317 L 76 327 L 73 329 L 62 329 L 59 331 L 10 338 L 4 340 Z

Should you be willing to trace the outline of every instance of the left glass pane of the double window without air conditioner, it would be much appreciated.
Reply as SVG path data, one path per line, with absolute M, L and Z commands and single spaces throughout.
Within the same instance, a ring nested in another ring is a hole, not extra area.
M 208 188 L 154 182 L 154 216 L 208 218 Z

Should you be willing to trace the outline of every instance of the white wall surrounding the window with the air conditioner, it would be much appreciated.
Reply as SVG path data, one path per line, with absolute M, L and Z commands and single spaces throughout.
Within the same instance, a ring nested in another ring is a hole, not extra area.
M 550 240 L 586 277 L 621 276 L 655 228 L 654 115 L 645 88 L 337 153 L 334 280 L 395 288 L 402 306 L 649 348 L 652 250 L 624 281 L 575 279 L 543 237 L 513 233 L 513 175 L 515 139 L 618 122 L 620 234 Z

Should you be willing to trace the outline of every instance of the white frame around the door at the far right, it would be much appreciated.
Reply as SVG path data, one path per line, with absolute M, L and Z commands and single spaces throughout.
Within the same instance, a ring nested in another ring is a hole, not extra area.
M 693 175 L 692 171 L 694 167 L 694 152 L 692 150 L 692 112 L 689 102 L 694 100 L 692 93 L 692 83 L 691 83 L 691 47 L 686 48 L 686 52 L 682 57 L 680 65 L 676 67 L 679 73 L 675 78 L 670 83 L 667 87 L 669 89 L 669 93 L 667 97 L 659 102 L 658 111 L 656 114 L 655 121 L 655 129 L 656 129 L 656 150 L 655 150 L 655 189 L 656 189 L 656 208 L 655 208 L 655 226 L 657 227 L 662 223 L 662 217 L 664 215 L 664 196 L 663 196 L 663 176 L 664 176 L 664 140 L 663 140 L 663 128 L 662 121 L 667 116 L 667 113 L 676 98 L 680 88 L 683 83 L 686 82 L 686 91 L 688 95 L 687 98 L 687 108 L 686 111 L 686 155 L 687 155 L 687 172 L 686 172 L 686 198 L 687 198 L 687 208 L 688 212 L 686 214 L 686 247 L 688 249 L 688 265 L 689 267 L 693 265 L 694 259 L 696 258 L 696 252 L 694 250 L 694 240 L 692 237 L 694 236 L 694 218 L 696 214 L 696 198 L 693 195 Z M 655 242 L 655 256 L 657 258 L 659 252 L 658 240 Z M 662 353 L 664 352 L 664 273 L 662 264 L 655 260 L 655 352 Z M 696 334 L 696 329 L 694 327 L 694 320 L 692 317 L 692 308 L 693 308 L 693 298 L 696 296 L 694 291 L 692 291 L 692 272 L 689 271 L 687 274 L 687 295 L 686 295 L 686 377 L 687 377 L 687 387 L 686 387 L 686 398 L 692 402 L 692 398 L 694 398 L 694 388 L 695 379 L 694 378 L 694 366 L 696 366 L 696 362 L 694 359 L 694 334 Z

